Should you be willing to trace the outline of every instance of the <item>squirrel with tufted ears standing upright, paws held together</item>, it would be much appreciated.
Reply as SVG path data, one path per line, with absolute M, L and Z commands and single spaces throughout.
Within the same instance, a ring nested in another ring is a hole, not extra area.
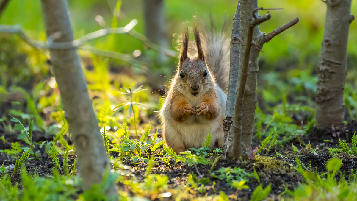
M 159 114 L 165 143 L 177 153 L 202 147 L 209 132 L 210 149 L 222 147 L 224 141 L 230 40 L 224 31 L 211 28 L 203 31 L 201 44 L 197 25 L 193 35 L 196 47 L 189 49 L 188 29 L 182 31 L 180 60 Z

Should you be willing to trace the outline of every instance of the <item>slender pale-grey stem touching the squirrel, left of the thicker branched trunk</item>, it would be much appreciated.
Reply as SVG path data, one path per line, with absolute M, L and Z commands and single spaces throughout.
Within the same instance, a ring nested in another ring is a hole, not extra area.
M 230 153 L 233 153 L 233 116 L 234 116 L 234 107 L 236 102 L 236 85 L 238 79 L 238 67 L 239 67 L 239 54 L 240 54 L 240 6 L 237 5 L 236 14 L 233 19 L 233 29 L 231 36 L 231 54 L 230 54 L 230 74 L 229 74 L 229 83 L 228 83 L 228 93 L 227 93 L 227 103 L 226 103 L 226 116 L 223 120 L 223 131 L 225 143 L 223 145 L 223 156 L 228 156 Z M 240 142 L 239 142 L 240 143 Z M 239 150 L 238 150 L 239 151 Z

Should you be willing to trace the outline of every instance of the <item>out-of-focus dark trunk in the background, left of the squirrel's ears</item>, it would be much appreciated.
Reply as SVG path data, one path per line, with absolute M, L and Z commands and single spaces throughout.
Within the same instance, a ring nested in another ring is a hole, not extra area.
M 166 23 L 164 15 L 164 0 L 143 0 L 144 1 L 144 19 L 145 35 L 152 43 L 161 46 L 158 62 L 167 60 L 165 49 L 169 42 L 166 35 Z

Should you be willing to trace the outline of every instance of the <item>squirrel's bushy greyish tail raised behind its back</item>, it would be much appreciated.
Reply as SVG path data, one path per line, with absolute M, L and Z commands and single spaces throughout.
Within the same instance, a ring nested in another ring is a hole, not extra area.
M 221 30 L 215 29 L 213 22 L 201 29 L 202 46 L 207 65 L 215 75 L 216 82 L 227 93 L 230 65 L 230 37 L 227 35 L 227 23 Z

